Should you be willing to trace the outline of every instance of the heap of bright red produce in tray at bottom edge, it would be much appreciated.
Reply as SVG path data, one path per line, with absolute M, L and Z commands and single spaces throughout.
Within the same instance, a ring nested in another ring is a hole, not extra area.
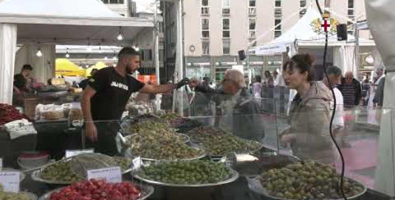
M 63 187 L 50 195 L 50 200 L 135 200 L 140 190 L 130 182 L 107 183 L 83 180 Z

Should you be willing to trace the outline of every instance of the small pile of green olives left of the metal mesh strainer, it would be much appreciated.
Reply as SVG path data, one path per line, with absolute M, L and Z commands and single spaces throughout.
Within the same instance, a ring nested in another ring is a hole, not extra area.
M 44 180 L 65 182 L 75 182 L 83 179 L 71 170 L 69 160 L 61 160 L 46 166 L 41 170 L 40 176 Z

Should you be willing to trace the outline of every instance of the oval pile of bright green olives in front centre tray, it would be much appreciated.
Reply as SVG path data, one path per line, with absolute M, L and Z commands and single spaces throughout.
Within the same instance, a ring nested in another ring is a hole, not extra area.
M 232 172 L 223 163 L 191 160 L 144 166 L 140 175 L 163 183 L 204 184 L 226 180 Z

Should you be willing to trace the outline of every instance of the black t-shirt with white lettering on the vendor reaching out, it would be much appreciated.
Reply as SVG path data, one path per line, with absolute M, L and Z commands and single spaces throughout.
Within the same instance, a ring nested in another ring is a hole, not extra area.
M 114 67 L 98 70 L 88 84 L 96 90 L 90 99 L 93 120 L 119 120 L 131 93 L 144 86 L 130 75 L 121 76 Z

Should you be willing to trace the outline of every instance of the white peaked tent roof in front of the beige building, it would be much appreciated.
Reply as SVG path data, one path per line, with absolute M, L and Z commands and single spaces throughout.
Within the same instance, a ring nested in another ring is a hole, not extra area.
M 286 47 L 289 44 L 296 43 L 299 46 L 314 46 L 323 45 L 325 35 L 318 34 L 311 27 L 311 22 L 314 19 L 321 18 L 320 14 L 315 8 L 308 8 L 306 13 L 286 32 L 282 33 L 279 37 L 275 38 L 273 41 L 264 44 L 262 46 L 256 46 L 250 48 L 249 51 L 254 51 L 255 54 L 270 54 L 276 52 L 286 51 Z M 347 42 L 354 42 L 355 37 L 348 34 Z M 374 45 L 374 41 L 368 39 L 359 38 L 360 45 Z M 328 36 L 328 44 L 344 45 L 346 41 L 337 41 L 337 35 Z

